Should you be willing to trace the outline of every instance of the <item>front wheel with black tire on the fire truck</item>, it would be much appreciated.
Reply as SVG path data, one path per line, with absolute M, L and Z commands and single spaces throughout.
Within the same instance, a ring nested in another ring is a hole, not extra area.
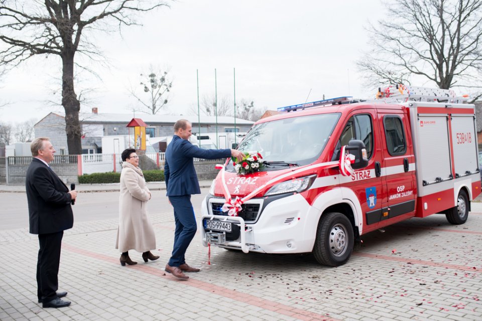
M 322 265 L 343 265 L 353 251 L 354 234 L 350 220 L 341 213 L 321 216 L 316 231 L 313 256 Z

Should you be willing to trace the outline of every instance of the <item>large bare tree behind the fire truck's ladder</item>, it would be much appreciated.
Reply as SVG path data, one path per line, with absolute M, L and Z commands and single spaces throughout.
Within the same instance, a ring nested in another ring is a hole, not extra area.
M 370 25 L 371 50 L 357 62 L 366 85 L 482 88 L 482 0 L 390 0 L 387 18 Z M 474 97 L 476 100 L 480 94 Z

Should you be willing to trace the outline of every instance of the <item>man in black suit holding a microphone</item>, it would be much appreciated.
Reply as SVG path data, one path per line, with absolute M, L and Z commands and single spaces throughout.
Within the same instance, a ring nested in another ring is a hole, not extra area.
M 34 159 L 26 177 L 29 203 L 30 233 L 39 235 L 37 261 L 37 296 L 43 307 L 62 307 L 70 301 L 61 297 L 67 292 L 57 292 L 60 264 L 60 247 L 64 230 L 74 223 L 71 201 L 77 192 L 67 186 L 52 171 L 55 149 L 49 138 L 36 138 L 30 145 Z

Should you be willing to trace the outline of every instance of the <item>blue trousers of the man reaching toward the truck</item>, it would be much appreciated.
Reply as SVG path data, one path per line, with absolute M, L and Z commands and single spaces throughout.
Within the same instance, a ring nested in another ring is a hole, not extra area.
M 174 247 L 171 259 L 167 264 L 179 266 L 186 263 L 184 254 L 196 234 L 196 217 L 191 204 L 191 195 L 169 196 L 169 201 L 174 207 L 176 230 L 174 231 Z

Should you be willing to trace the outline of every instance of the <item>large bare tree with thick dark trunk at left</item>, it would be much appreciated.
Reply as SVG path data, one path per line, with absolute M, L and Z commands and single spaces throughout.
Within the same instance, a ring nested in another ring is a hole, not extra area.
M 138 25 L 136 13 L 167 6 L 157 0 L 0 0 L 0 65 L 14 68 L 35 55 L 62 60 L 62 106 L 70 154 L 81 153 L 80 102 L 74 90 L 75 54 L 95 60 L 99 51 L 89 32 Z

